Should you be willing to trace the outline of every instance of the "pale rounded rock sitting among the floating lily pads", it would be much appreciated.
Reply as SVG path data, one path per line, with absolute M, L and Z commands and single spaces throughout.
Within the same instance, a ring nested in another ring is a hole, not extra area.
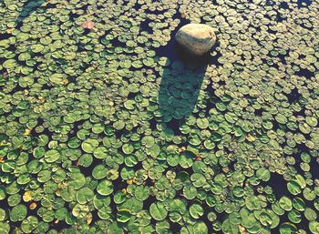
M 191 54 L 201 56 L 211 50 L 216 42 L 216 36 L 211 26 L 189 24 L 180 27 L 175 39 L 180 46 L 185 47 Z

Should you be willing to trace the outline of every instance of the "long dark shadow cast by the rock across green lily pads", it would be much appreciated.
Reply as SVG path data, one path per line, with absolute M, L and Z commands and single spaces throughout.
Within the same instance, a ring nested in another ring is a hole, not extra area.
M 163 122 L 187 118 L 192 113 L 201 90 L 210 55 L 191 56 L 175 43 L 168 56 L 170 66 L 160 73 L 159 104 Z

